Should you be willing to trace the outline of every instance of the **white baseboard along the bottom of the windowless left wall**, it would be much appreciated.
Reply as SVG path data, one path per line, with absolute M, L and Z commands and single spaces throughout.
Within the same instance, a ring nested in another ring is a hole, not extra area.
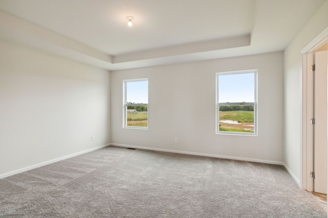
M 105 148 L 105 147 L 108 147 L 108 146 L 110 146 L 110 144 L 104 144 L 103 146 L 99 146 L 99 147 L 96 147 L 96 148 L 93 148 L 93 149 L 88 149 L 88 150 L 77 152 L 77 153 L 74 153 L 74 154 L 70 154 L 70 155 L 67 155 L 67 156 L 64 156 L 64 157 L 59 157 L 59 158 L 56 158 L 56 159 L 53 159 L 53 160 L 49 160 L 49 161 L 38 163 L 38 164 L 35 164 L 35 165 L 32 165 L 32 166 L 17 169 L 15 171 L 11 171 L 11 172 L 8 172 L 8 173 L 5 173 L 5 174 L 1 174 L 0 179 L 3 179 L 5 177 L 9 177 L 9 176 L 12 176 L 12 175 L 15 175 L 15 174 L 23 173 L 25 171 L 29 171 L 30 169 L 34 169 L 34 168 L 37 168 L 37 167 L 40 167 L 40 166 L 48 165 L 50 163 L 58 162 L 60 160 L 65 160 L 65 159 L 75 157 L 75 156 L 78 156 L 78 155 L 81 155 L 81 154 L 85 154 L 85 153 L 92 152 L 92 151 L 95 151 L 95 150 L 98 150 L 98 149 L 102 149 L 102 148 Z

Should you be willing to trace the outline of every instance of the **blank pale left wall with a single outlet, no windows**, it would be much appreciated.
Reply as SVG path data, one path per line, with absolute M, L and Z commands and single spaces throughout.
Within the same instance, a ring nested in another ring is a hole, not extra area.
M 109 71 L 1 40 L 0 51 L 0 178 L 110 143 Z

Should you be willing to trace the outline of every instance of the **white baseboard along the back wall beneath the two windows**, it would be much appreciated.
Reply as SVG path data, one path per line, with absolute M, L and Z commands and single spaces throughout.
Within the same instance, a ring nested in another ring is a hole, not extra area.
M 261 160 L 261 159 L 233 157 L 233 156 L 224 156 L 224 155 L 197 153 L 197 152 L 186 152 L 186 151 L 169 150 L 169 149 L 157 149 L 157 148 L 142 147 L 142 146 L 131 146 L 129 144 L 110 143 L 110 146 L 118 146 L 118 147 L 126 147 L 126 148 L 134 148 L 134 149 L 145 149 L 145 150 L 160 151 L 160 152 L 170 152 L 170 153 L 178 153 L 178 154 L 189 154 L 189 155 L 197 155 L 197 156 L 204 156 L 204 157 L 216 157 L 216 158 L 223 158 L 223 159 L 243 160 L 243 161 L 250 161 L 250 162 L 258 162 L 258 163 L 269 163 L 269 164 L 283 165 L 283 162 L 273 161 L 273 160 Z

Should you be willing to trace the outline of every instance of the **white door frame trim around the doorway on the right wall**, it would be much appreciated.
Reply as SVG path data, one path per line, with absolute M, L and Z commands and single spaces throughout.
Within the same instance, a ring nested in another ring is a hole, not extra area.
M 310 44 L 308 44 L 304 49 L 301 51 L 301 59 L 302 59 L 302 70 L 301 70 L 301 146 L 300 146 L 300 187 L 304 190 L 313 191 L 313 178 L 310 177 L 310 172 L 313 171 L 313 137 L 312 129 L 308 128 L 308 120 L 307 115 L 307 108 L 310 106 L 311 102 L 308 100 L 307 95 L 307 87 L 308 87 L 308 65 L 307 65 L 307 55 L 309 53 L 315 52 L 319 49 L 322 45 L 328 42 L 328 28 L 325 29 L 319 36 L 317 36 Z M 328 92 L 328 90 L 327 90 Z M 328 96 L 328 95 L 327 95 Z M 327 99 L 328 102 L 328 99 Z M 327 111 L 328 114 L 328 111 Z M 308 122 L 309 121 L 309 122 Z M 327 124 L 328 126 L 328 124 Z M 312 143 L 311 143 L 312 141 Z M 328 143 L 328 142 L 327 142 Z M 328 144 L 327 144 L 328 147 Z M 327 154 L 328 157 L 328 154 Z M 328 158 L 327 158 L 328 159 Z M 327 167 L 328 169 L 328 167 Z M 328 186 L 328 183 L 327 183 Z

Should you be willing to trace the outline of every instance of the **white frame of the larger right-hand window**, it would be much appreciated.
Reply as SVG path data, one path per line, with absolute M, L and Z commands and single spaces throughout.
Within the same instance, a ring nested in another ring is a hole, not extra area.
M 219 76 L 220 75 L 233 75 L 233 74 L 249 74 L 254 73 L 254 133 L 248 132 L 229 132 L 229 131 L 220 131 L 219 129 Z M 229 72 L 217 72 L 216 73 L 216 134 L 223 135 L 249 135 L 257 136 L 257 69 L 251 70 L 239 70 L 239 71 L 229 71 Z

